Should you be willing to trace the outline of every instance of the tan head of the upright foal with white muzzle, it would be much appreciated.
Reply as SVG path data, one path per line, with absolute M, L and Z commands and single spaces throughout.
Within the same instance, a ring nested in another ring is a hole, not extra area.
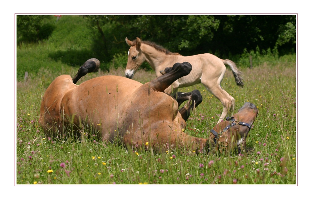
M 141 40 L 140 38 L 136 38 L 134 41 L 128 40 L 126 38 L 127 44 L 130 46 L 128 51 L 128 62 L 125 71 L 125 76 L 129 79 L 132 79 L 135 72 L 138 70 L 139 66 L 146 60 L 144 54 L 141 51 Z

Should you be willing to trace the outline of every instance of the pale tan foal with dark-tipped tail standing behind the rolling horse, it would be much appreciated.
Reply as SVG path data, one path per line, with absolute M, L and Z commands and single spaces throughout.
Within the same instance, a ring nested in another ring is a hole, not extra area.
M 127 78 L 132 79 L 135 72 L 144 61 L 147 61 L 155 70 L 157 77 L 162 76 L 160 71 L 173 66 L 173 64 L 177 62 L 189 62 L 193 66 L 191 73 L 174 81 L 165 92 L 168 94 L 174 94 L 178 91 L 178 88 L 202 83 L 202 85 L 204 85 L 211 94 L 217 97 L 223 105 L 223 111 L 218 123 L 226 118 L 228 112 L 234 110 L 235 99 L 223 90 L 220 85 L 226 71 L 226 64 L 230 66 L 236 84 L 241 87 L 244 86 L 241 72 L 238 71 L 233 61 L 222 60 L 210 53 L 182 56 L 178 53 L 172 53 L 155 43 L 141 41 L 138 37 L 134 41 L 130 41 L 126 38 L 126 42 L 130 46 L 125 71 L 125 76 Z

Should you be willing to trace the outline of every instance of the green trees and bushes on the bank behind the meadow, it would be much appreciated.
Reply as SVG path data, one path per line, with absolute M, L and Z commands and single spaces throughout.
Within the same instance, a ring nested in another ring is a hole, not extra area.
M 240 67 L 249 66 L 251 55 L 258 65 L 295 53 L 295 19 L 291 15 L 64 15 L 56 22 L 55 16 L 18 15 L 17 80 L 23 80 L 25 71 L 36 76 L 40 68 L 78 68 L 90 58 L 99 59 L 104 71 L 125 67 L 126 37 L 154 41 L 183 56 L 212 53 Z M 147 63 L 141 68 L 151 69 Z

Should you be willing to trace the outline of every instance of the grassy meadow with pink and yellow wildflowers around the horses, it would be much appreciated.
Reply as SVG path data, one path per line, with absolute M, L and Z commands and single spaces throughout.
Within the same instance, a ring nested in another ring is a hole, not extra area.
M 119 144 L 103 143 L 87 128 L 81 140 L 70 131 L 62 137 L 46 137 L 38 122 L 41 97 L 61 74 L 76 74 L 78 67 L 60 70 L 41 67 L 27 80 L 17 81 L 16 184 L 296 184 L 296 66 L 290 61 L 262 62 L 240 68 L 244 88 L 236 86 L 227 69 L 222 88 L 235 98 L 235 112 L 245 103 L 259 110 L 247 138 L 248 152 L 241 154 L 195 154 L 185 149 L 155 153 L 133 151 Z M 287 60 L 287 59 L 285 59 Z M 48 61 L 47 61 L 48 62 Z M 82 65 L 83 63 L 81 63 Z M 88 74 L 77 84 L 97 76 L 124 76 L 124 68 Z M 152 71 L 139 70 L 134 80 L 145 83 Z M 187 121 L 186 132 L 207 138 L 222 112 L 221 103 L 202 85 L 203 102 Z

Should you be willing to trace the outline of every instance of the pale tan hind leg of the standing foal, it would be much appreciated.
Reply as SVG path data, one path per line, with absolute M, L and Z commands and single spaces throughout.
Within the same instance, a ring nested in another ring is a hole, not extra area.
M 227 113 L 234 110 L 235 99 L 225 90 L 223 90 L 219 84 L 216 85 L 216 82 L 214 81 L 202 80 L 202 84 L 211 94 L 213 94 L 218 100 L 221 101 L 223 105 L 223 111 L 218 123 L 220 123 L 222 120 L 224 121 Z

